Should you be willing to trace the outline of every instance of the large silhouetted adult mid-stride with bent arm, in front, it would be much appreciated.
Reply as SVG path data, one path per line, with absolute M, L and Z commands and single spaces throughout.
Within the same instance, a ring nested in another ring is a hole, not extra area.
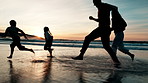
M 85 37 L 82 49 L 79 56 L 73 58 L 75 60 L 83 60 L 85 51 L 87 50 L 89 43 L 94 39 L 101 37 L 101 41 L 105 50 L 110 54 L 112 60 L 115 64 L 120 64 L 116 54 L 110 47 L 110 11 L 114 10 L 116 7 L 107 3 L 102 3 L 101 0 L 93 0 L 94 5 L 98 9 L 98 18 L 89 17 L 90 20 L 99 22 L 99 27 L 93 30 L 89 35 Z

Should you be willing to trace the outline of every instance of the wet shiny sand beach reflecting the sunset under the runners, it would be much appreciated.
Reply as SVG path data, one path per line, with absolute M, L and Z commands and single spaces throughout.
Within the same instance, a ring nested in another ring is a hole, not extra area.
M 84 60 L 72 60 L 80 48 L 53 47 L 54 58 L 49 58 L 43 46 L 33 48 L 35 55 L 15 49 L 7 59 L 9 44 L 0 44 L 0 83 L 147 83 L 148 51 L 131 50 L 136 57 L 118 52 L 121 68 L 114 67 L 110 56 L 102 48 L 89 48 Z

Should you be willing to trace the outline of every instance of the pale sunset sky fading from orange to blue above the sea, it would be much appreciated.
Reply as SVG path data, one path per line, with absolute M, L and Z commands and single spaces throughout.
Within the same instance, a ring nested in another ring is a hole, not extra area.
M 118 6 L 127 21 L 124 40 L 148 41 L 148 0 L 102 1 Z M 0 0 L 0 32 L 14 19 L 26 34 L 44 37 L 48 26 L 55 39 L 83 40 L 98 25 L 90 15 L 97 17 L 92 0 Z

